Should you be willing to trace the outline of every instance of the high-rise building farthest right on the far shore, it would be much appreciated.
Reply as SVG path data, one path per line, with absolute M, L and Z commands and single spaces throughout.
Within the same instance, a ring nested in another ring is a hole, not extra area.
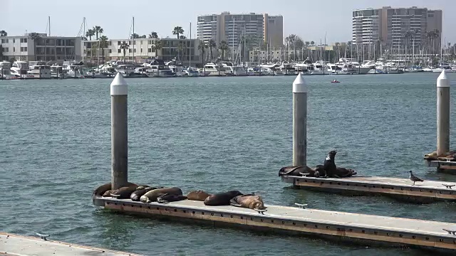
M 353 11 L 353 44 L 403 47 L 405 41 L 415 46 L 425 43 L 428 32 L 436 31 L 437 41 L 442 33 L 442 11 L 427 8 L 360 9 Z M 434 38 L 434 39 L 436 39 Z

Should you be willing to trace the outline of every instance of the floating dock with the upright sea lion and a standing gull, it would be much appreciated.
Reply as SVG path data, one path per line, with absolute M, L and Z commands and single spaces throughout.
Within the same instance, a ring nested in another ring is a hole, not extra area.
M 456 201 L 456 185 L 447 181 L 413 182 L 408 178 L 388 178 L 378 176 L 351 176 L 348 178 L 314 178 L 304 176 L 281 176 L 282 181 L 299 188 L 318 191 L 339 191 L 351 195 L 366 193 L 383 194 L 397 198 L 427 203 L 432 201 Z

